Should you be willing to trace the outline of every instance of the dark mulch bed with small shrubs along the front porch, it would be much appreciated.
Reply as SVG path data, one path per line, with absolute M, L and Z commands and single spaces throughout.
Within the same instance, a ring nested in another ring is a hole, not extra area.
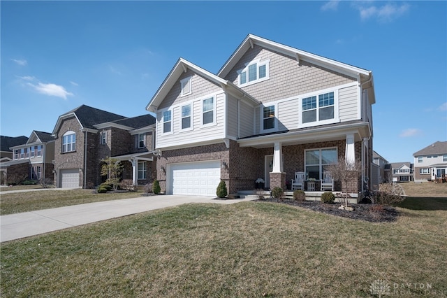
M 397 220 L 399 212 L 390 206 L 372 205 L 372 204 L 350 204 L 353 207 L 353 211 L 340 210 L 339 203 L 325 204 L 321 201 L 295 201 L 293 199 L 283 199 L 277 201 L 277 199 L 258 199 L 259 202 L 273 202 L 278 204 L 287 204 L 291 206 L 297 206 L 302 208 L 311 209 L 313 211 L 327 213 L 335 216 L 341 216 L 343 218 L 352 218 L 354 220 L 365 220 L 367 222 L 393 222 Z

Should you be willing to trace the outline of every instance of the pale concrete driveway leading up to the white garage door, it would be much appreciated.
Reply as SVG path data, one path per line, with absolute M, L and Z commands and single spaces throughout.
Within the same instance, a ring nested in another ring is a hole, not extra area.
M 233 204 L 250 199 L 219 200 L 212 197 L 160 195 L 100 201 L 60 208 L 0 216 L 0 242 L 66 229 L 90 222 L 109 220 L 145 211 L 188 203 Z

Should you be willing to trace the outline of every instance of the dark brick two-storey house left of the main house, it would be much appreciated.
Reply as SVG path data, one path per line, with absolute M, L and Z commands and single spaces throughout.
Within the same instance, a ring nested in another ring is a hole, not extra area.
M 152 178 L 154 155 L 152 115 L 126 118 L 82 105 L 59 116 L 53 129 L 54 181 L 57 187 L 91 188 L 101 176 L 103 159 L 122 161 L 122 178 L 145 184 Z

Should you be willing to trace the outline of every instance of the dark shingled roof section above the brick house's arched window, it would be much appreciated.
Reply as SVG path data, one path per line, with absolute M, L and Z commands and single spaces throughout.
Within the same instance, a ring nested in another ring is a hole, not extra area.
M 75 113 L 78 120 L 81 122 L 82 127 L 94 129 L 94 125 L 98 125 L 105 122 L 112 122 L 126 117 L 100 110 L 98 108 L 92 108 L 83 104 L 78 108 L 75 108 L 66 114 Z

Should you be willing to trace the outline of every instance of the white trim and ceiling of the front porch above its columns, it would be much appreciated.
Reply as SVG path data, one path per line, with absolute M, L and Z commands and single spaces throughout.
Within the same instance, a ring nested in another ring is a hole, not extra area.
M 305 130 L 295 129 L 277 134 L 239 139 L 237 142 L 241 147 L 270 148 L 276 142 L 281 143 L 282 146 L 291 146 L 305 143 L 345 140 L 348 134 L 353 134 L 355 141 L 362 141 L 363 138 L 369 138 L 371 136 L 369 123 L 361 122 L 351 125 L 318 127 Z

